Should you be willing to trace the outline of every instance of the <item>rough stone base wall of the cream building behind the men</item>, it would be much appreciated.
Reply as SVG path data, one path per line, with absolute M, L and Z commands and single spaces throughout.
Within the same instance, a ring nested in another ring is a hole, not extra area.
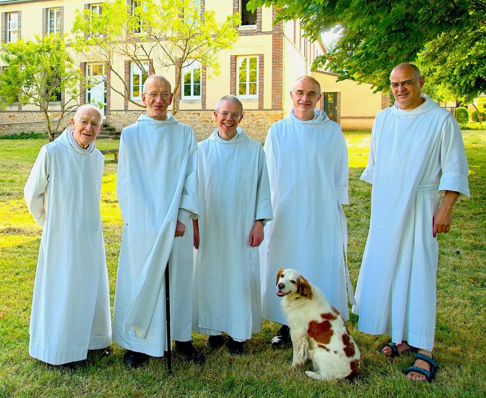
M 216 127 L 213 112 L 213 110 L 179 110 L 176 118 L 192 127 L 196 140 L 199 142 L 208 138 L 209 134 Z M 143 112 L 138 110 L 112 110 L 106 117 L 106 122 L 111 127 L 115 127 L 117 131 L 121 131 L 123 127 L 134 123 L 141 113 Z M 52 115 L 54 118 L 59 117 L 56 112 L 53 112 Z M 64 117 L 59 126 L 59 132 L 62 132 L 70 124 L 71 116 L 69 114 Z M 283 118 L 283 116 L 283 111 L 281 110 L 248 110 L 244 112 L 240 126 L 251 138 L 263 142 L 270 125 Z M 47 131 L 43 113 L 33 111 L 0 112 L 0 135 L 28 133 L 31 131 L 35 133 L 45 133 Z

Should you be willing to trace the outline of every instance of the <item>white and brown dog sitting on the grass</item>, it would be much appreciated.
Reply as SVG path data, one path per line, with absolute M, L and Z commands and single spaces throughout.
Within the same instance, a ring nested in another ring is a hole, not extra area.
M 317 380 L 352 380 L 360 373 L 360 350 L 339 311 L 298 271 L 279 269 L 277 295 L 290 327 L 294 346 L 292 366 L 311 359 Z

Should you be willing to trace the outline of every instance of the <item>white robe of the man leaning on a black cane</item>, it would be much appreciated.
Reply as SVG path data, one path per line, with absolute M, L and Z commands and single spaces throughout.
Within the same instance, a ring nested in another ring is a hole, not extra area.
M 123 217 L 113 341 L 161 357 L 167 350 L 165 267 L 169 261 L 172 336 L 191 340 L 192 228 L 197 218 L 197 145 L 171 114 L 143 114 L 121 132 L 117 196 Z M 174 238 L 177 219 L 186 225 Z M 178 262 L 178 244 L 186 255 Z M 175 325 L 174 325 L 175 324 Z M 181 325 L 183 325 L 181 327 Z

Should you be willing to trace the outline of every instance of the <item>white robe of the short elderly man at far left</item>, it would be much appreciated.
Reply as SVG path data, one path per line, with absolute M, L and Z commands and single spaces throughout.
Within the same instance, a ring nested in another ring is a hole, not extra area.
M 24 196 L 42 227 L 29 354 L 59 365 L 111 344 L 110 296 L 100 214 L 104 156 L 66 129 L 44 145 Z

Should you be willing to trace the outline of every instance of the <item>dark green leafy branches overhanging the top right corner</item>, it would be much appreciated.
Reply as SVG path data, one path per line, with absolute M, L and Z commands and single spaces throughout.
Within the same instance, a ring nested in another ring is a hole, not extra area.
M 274 5 L 277 20 L 300 18 L 318 39 L 341 27 L 329 61 L 338 80 L 353 79 L 386 90 L 391 69 L 417 62 L 426 77 L 467 102 L 486 90 L 485 0 L 251 0 L 252 9 Z

